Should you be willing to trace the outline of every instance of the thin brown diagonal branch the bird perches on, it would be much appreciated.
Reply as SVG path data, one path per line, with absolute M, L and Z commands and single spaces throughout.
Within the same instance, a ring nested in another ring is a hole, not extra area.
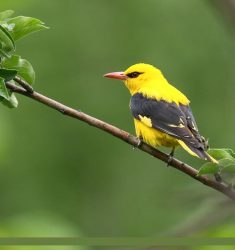
M 25 81 L 23 81 L 22 84 L 22 80 L 19 78 L 14 79 L 17 83 L 19 83 L 21 86 L 24 86 L 24 84 L 27 84 Z M 38 92 L 35 91 L 28 91 L 27 87 L 23 88 L 23 87 L 19 87 L 16 86 L 13 83 L 8 82 L 6 84 L 7 88 L 12 90 L 15 93 L 27 96 L 31 99 L 34 99 L 44 105 L 47 105 L 59 112 L 61 112 L 64 115 L 73 117 L 75 119 L 78 119 L 80 121 L 83 121 L 91 126 L 94 126 L 98 129 L 101 129 L 109 134 L 112 134 L 113 136 L 125 141 L 126 143 L 139 148 L 140 150 L 160 159 L 161 161 L 164 162 L 168 162 L 169 161 L 169 156 L 149 145 L 147 145 L 146 143 L 141 143 L 141 145 L 139 145 L 139 139 L 136 138 L 135 136 L 129 134 L 128 132 L 121 130 L 109 123 L 103 122 L 95 117 L 92 117 L 90 115 L 87 115 L 84 112 L 81 112 L 79 110 L 75 110 L 72 109 L 60 102 L 57 102 L 51 98 L 48 98 Z M 226 184 L 224 183 L 220 183 L 215 181 L 214 179 L 209 179 L 206 176 L 197 176 L 198 171 L 194 168 L 192 168 L 191 166 L 177 160 L 176 158 L 172 158 L 172 160 L 170 161 L 169 165 L 171 165 L 172 167 L 178 169 L 179 171 L 191 176 L 192 178 L 194 178 L 197 181 L 200 181 L 201 183 L 223 193 L 224 195 L 228 196 L 229 198 L 231 198 L 232 200 L 235 201 L 235 192 L 228 187 Z

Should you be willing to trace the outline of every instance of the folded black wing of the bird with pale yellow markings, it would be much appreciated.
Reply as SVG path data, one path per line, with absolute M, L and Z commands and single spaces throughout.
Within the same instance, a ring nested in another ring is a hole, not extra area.
M 182 140 L 190 148 L 205 150 L 205 141 L 198 132 L 189 106 L 157 101 L 137 93 L 131 98 L 130 108 L 136 119 L 147 117 L 153 128 Z

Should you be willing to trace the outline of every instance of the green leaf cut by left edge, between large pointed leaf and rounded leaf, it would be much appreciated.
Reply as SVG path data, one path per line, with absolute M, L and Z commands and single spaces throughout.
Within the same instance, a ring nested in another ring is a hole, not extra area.
M 0 56 L 10 57 L 15 51 L 15 43 L 9 32 L 0 25 Z

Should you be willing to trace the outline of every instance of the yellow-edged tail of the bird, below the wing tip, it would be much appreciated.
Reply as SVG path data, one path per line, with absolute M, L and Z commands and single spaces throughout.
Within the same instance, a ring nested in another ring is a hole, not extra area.
M 191 145 L 190 143 L 186 144 L 181 140 L 178 140 L 178 142 L 184 148 L 184 150 L 186 150 L 191 155 L 218 164 L 218 161 L 214 159 L 212 156 L 210 156 L 207 152 L 205 152 L 202 148 L 193 147 L 193 145 Z

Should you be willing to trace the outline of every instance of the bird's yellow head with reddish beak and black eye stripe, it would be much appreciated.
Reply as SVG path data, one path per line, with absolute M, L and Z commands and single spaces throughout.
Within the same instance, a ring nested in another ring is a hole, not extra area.
M 135 94 L 144 85 L 156 84 L 158 79 L 163 78 L 159 69 L 145 63 L 134 64 L 125 71 L 108 73 L 104 77 L 124 81 L 131 94 Z

